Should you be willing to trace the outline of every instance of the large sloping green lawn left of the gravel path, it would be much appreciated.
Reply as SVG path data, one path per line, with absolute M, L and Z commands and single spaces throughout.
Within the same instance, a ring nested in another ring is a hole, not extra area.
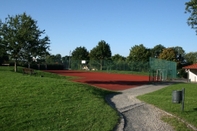
M 0 67 L 1 131 L 110 131 L 118 123 L 117 112 L 104 100 L 112 92 L 56 74 L 10 70 Z

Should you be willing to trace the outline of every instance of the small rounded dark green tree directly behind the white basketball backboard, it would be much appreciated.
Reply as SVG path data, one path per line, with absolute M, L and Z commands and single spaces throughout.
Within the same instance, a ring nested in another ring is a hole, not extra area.
M 89 52 L 85 47 L 77 47 L 72 52 L 72 60 L 89 60 Z

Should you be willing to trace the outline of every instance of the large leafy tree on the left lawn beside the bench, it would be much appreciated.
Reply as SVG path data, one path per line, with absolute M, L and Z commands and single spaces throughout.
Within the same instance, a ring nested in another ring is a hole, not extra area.
M 43 36 L 45 30 L 40 31 L 37 22 L 31 16 L 23 13 L 5 19 L 2 26 L 2 41 L 9 56 L 15 61 L 15 72 L 17 61 L 26 61 L 28 64 L 33 57 L 43 57 L 49 50 L 49 38 Z

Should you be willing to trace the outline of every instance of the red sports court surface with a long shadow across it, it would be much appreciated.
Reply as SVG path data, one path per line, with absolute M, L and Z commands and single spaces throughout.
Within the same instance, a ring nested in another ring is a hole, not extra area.
M 64 76 L 76 76 L 73 81 L 86 83 L 98 88 L 120 91 L 136 86 L 148 84 L 149 77 L 132 74 L 115 74 L 105 72 L 74 71 L 74 70 L 47 70 Z

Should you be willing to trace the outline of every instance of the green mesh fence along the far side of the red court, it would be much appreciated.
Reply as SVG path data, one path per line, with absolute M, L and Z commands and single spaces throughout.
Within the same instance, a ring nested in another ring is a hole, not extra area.
M 149 62 L 112 60 L 71 60 L 72 70 L 137 71 L 149 73 L 150 81 L 166 81 L 176 78 L 176 62 L 150 58 Z

